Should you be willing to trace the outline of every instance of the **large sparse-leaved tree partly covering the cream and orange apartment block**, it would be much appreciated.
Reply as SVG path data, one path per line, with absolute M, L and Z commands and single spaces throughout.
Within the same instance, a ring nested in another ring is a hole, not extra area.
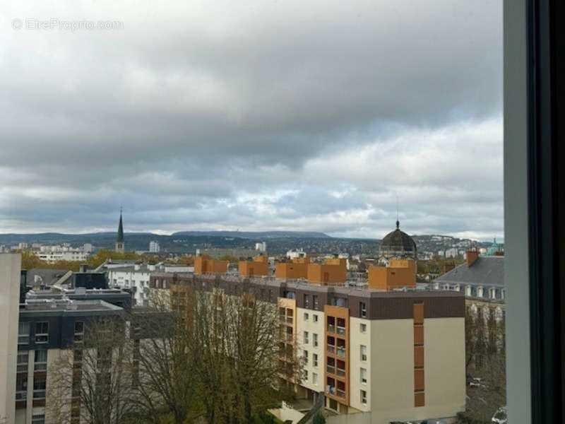
M 238 295 L 194 289 L 194 358 L 208 423 L 251 423 L 289 395 L 282 375 L 298 381 L 300 363 L 279 360 L 278 307 L 247 283 Z M 289 371 L 291 369 L 291 371 Z

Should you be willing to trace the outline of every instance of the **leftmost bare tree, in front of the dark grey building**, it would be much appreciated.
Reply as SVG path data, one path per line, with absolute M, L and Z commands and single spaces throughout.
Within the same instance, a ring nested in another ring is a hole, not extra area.
M 85 325 L 49 369 L 47 415 L 59 423 L 125 423 L 132 412 L 131 350 L 123 317 Z

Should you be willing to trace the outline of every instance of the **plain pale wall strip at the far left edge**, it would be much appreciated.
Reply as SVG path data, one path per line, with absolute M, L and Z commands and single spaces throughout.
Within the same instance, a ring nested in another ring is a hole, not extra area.
M 20 298 L 19 254 L 0 254 L 0 417 L 16 420 L 16 363 Z

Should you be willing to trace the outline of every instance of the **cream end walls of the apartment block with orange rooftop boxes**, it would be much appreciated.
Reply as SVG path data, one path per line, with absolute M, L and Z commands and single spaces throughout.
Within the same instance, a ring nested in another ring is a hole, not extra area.
M 360 334 L 359 324 L 367 325 Z M 424 320 L 425 406 L 415 408 L 414 325 L 412 319 L 350 322 L 350 405 L 367 411 L 359 401 L 359 368 L 367 368 L 370 413 L 352 413 L 328 423 L 388 424 L 392 420 L 424 420 L 455 416 L 465 408 L 465 319 Z M 369 361 L 360 361 L 359 346 Z

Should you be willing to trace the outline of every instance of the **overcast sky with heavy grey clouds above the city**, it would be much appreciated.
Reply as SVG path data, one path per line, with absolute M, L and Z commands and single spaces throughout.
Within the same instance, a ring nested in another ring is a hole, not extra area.
M 501 238 L 501 11 L 4 1 L 0 232 Z

